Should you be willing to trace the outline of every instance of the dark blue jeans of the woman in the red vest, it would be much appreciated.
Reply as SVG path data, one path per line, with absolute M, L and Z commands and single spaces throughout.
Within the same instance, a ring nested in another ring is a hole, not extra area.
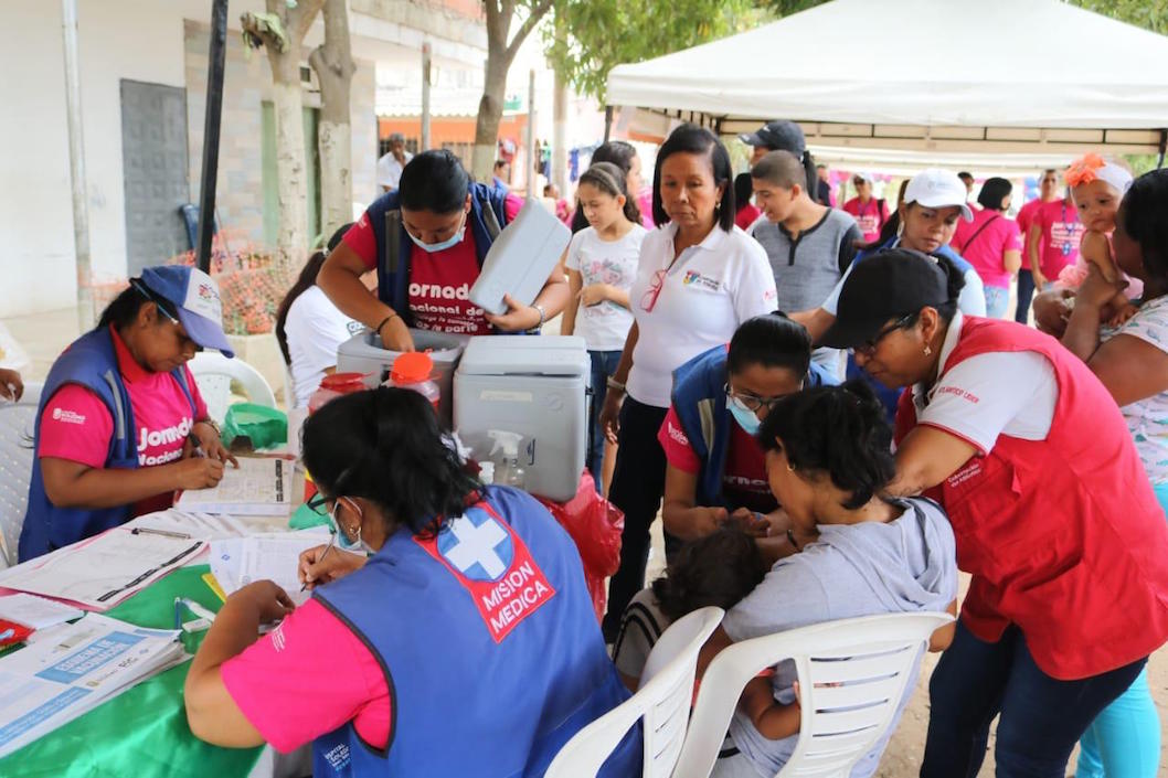
M 929 683 L 929 739 L 922 778 L 972 778 L 986 757 L 989 723 L 999 778 L 1063 778 L 1079 736 L 1127 690 L 1147 660 L 1078 681 L 1059 681 L 1035 665 L 1016 626 L 983 642 L 958 621 L 953 645 Z

